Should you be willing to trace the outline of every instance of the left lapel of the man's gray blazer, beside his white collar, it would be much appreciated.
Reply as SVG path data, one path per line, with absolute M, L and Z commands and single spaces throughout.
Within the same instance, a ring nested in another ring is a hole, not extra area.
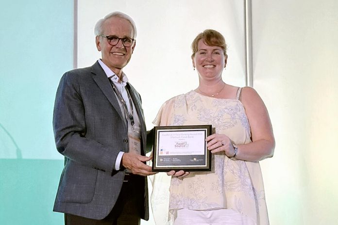
M 93 73 L 93 80 L 97 83 L 103 94 L 113 105 L 113 107 L 118 112 L 118 115 L 121 117 L 121 119 L 124 120 L 121 108 L 118 104 L 118 99 L 116 98 L 114 90 L 107 78 L 107 75 L 104 73 L 104 70 L 102 69 L 101 65 L 98 62 L 96 62 L 92 66 L 91 72 Z

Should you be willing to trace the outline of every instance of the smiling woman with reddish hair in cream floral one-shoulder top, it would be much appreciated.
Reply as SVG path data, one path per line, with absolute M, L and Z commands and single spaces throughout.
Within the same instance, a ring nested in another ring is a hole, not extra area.
M 253 88 L 238 88 L 222 80 L 228 56 L 219 32 L 205 30 L 191 47 L 199 86 L 166 101 L 154 124 L 211 124 L 216 133 L 206 141 L 213 165 L 211 172 L 168 173 L 172 176 L 169 219 L 174 225 L 267 225 L 258 162 L 272 157 L 275 145 L 267 109 Z M 155 185 L 152 196 L 157 189 Z

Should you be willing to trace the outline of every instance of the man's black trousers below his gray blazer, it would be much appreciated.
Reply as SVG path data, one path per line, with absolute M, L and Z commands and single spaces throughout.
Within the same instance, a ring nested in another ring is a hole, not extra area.
M 140 217 L 144 212 L 142 179 L 136 175 L 126 175 L 114 208 L 103 220 L 65 213 L 65 225 L 140 225 Z

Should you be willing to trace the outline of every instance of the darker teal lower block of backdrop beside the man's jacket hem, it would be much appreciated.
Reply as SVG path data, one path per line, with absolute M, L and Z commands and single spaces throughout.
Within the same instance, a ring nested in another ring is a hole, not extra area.
M 63 224 L 52 211 L 62 169 L 62 160 L 0 159 L 0 224 Z

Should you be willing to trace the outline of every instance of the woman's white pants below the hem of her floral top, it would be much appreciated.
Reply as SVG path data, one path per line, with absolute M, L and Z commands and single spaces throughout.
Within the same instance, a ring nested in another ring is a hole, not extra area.
M 233 209 L 179 209 L 174 225 L 255 225 L 255 223 Z

